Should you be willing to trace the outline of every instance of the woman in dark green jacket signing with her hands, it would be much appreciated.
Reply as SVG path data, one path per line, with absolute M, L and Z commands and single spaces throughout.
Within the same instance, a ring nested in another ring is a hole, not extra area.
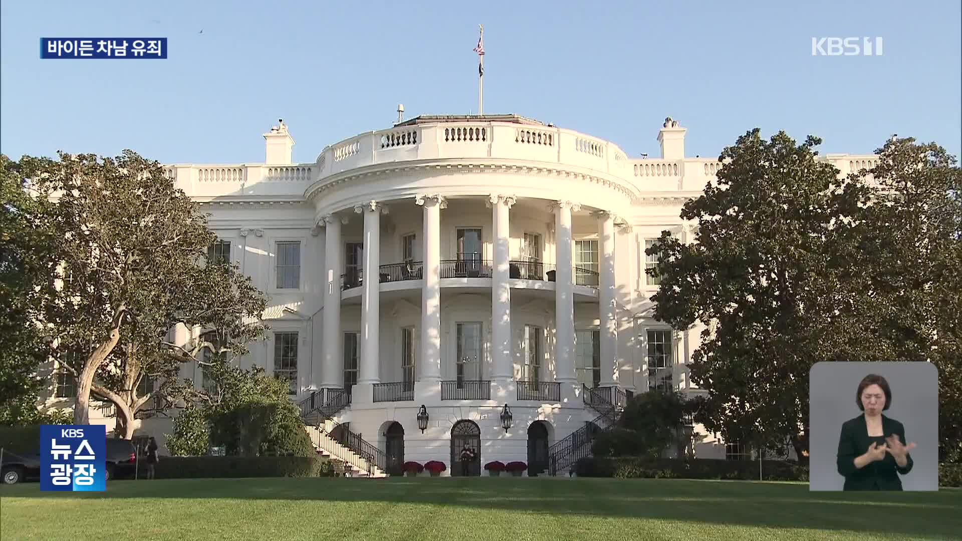
M 905 443 L 905 427 L 882 415 L 892 405 L 892 389 L 881 375 L 862 378 L 855 395 L 862 415 L 842 425 L 837 467 L 844 490 L 901 490 L 899 475 L 912 471 L 914 443 Z M 864 451 L 863 451 L 864 450 Z

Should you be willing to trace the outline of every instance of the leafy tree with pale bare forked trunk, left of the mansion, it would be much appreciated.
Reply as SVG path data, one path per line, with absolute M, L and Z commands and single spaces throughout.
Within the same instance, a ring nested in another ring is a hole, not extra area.
M 56 329 L 56 354 L 76 376 L 74 422 L 88 422 L 92 392 L 114 402 L 129 436 L 137 410 L 173 385 L 177 363 L 215 348 L 170 344 L 171 329 L 214 328 L 225 337 L 218 351 L 242 354 L 263 333 L 257 321 L 266 299 L 236 268 L 206 264 L 215 241 L 206 216 L 157 162 L 129 150 L 116 158 L 60 157 L 21 160 L 37 164 L 22 178 L 55 201 L 51 261 L 61 264 L 60 285 L 40 322 Z M 139 396 L 144 376 L 165 383 Z

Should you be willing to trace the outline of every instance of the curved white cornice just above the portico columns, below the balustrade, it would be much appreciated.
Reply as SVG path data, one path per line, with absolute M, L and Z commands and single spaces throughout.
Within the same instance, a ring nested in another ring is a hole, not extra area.
M 376 178 L 389 174 L 408 173 L 414 171 L 438 171 L 444 173 L 514 173 L 532 176 L 543 176 L 551 178 L 571 178 L 583 180 L 585 182 L 611 188 L 631 201 L 638 198 L 638 193 L 630 188 L 631 181 L 621 179 L 614 174 L 601 172 L 590 172 L 588 170 L 577 170 L 578 167 L 566 168 L 561 165 L 519 165 L 508 163 L 439 163 L 439 162 L 410 162 L 406 164 L 379 164 L 376 166 L 359 167 L 348 171 L 343 171 L 319 180 L 308 187 L 305 191 L 306 200 L 314 200 L 318 195 L 328 190 L 336 188 L 342 184 L 349 183 L 362 178 Z

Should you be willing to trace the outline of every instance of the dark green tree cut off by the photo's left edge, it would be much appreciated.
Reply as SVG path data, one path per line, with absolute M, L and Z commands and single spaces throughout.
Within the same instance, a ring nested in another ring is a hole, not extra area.
M 45 381 L 37 369 L 50 358 L 52 338 L 38 315 L 53 291 L 56 230 L 50 202 L 26 179 L 45 167 L 45 160 L 0 155 L 0 425 L 42 417 L 37 399 Z

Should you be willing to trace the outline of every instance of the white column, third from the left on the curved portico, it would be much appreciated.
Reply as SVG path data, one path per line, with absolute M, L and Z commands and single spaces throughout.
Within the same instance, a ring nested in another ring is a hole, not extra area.
M 418 195 L 424 207 L 421 287 L 420 381 L 441 381 L 441 209 L 447 201 L 441 195 Z

